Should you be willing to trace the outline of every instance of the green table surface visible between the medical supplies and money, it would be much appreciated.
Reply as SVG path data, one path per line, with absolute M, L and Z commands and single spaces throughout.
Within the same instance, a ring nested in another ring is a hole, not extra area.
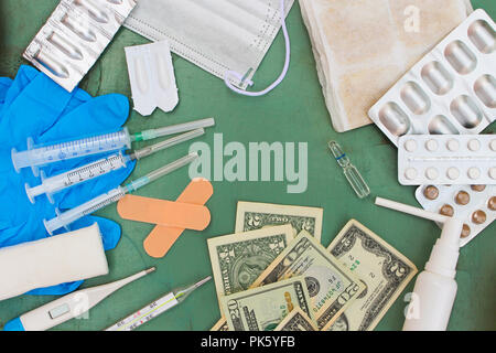
M 0 76 L 13 77 L 21 64 L 21 54 L 41 25 L 46 21 L 57 0 L 0 1 Z M 496 17 L 493 0 L 473 1 Z M 200 140 L 213 146 L 214 133 L 223 133 L 224 143 L 239 141 L 308 142 L 309 188 L 301 194 L 287 193 L 284 182 L 213 182 L 214 195 L 207 205 L 212 223 L 204 232 L 186 231 L 164 258 L 149 257 L 142 242 L 152 225 L 121 220 L 116 205 L 107 206 L 97 215 L 115 220 L 122 227 L 118 246 L 107 252 L 110 272 L 87 280 L 83 286 L 101 285 L 129 276 L 150 266 L 158 270 L 125 287 L 89 312 L 89 320 L 72 320 L 54 330 L 103 330 L 118 319 L 145 306 L 171 289 L 211 275 L 207 238 L 234 233 L 238 201 L 321 206 L 324 208 L 322 244 L 327 246 L 351 218 L 356 218 L 380 235 L 386 242 L 411 259 L 419 270 L 428 260 L 432 245 L 440 235 L 439 227 L 429 221 L 416 218 L 374 205 L 380 195 L 411 205 L 418 205 L 414 186 L 401 186 L 397 180 L 397 151 L 385 135 L 374 126 L 345 133 L 333 130 L 317 82 L 315 61 L 298 1 L 289 18 L 292 54 L 288 76 L 272 93 L 259 98 L 238 96 L 224 83 L 190 62 L 173 55 L 180 104 L 173 113 L 161 110 L 150 117 L 131 111 L 127 121 L 130 131 L 163 125 L 179 124 L 203 117 L 215 117 L 216 127 Z M 122 29 L 105 51 L 80 87 L 91 95 L 120 93 L 131 99 L 123 47 L 148 41 Z M 257 87 L 270 84 L 282 66 L 284 45 L 279 33 L 255 76 Z M 495 125 L 485 132 L 494 132 Z M 8 131 L 1 131 L 8 133 Z M 363 172 L 371 195 L 359 200 L 347 184 L 342 170 L 331 158 L 326 142 L 338 140 L 353 162 Z M 144 146 L 137 143 L 136 146 Z M 187 152 L 183 145 L 165 153 L 140 161 L 130 178 L 137 178 Z M 226 159 L 227 160 L 227 159 Z M 141 189 L 137 194 L 175 200 L 188 182 L 187 169 Z M 450 320 L 450 330 L 496 329 L 495 288 L 496 225 L 461 250 L 456 280 L 459 292 Z M 407 302 L 405 293 L 396 300 L 376 330 L 400 330 Z M 0 325 L 37 308 L 55 297 L 21 296 L 0 302 Z M 141 330 L 208 330 L 218 320 L 219 310 L 211 281 L 192 295 L 183 304 L 162 314 Z

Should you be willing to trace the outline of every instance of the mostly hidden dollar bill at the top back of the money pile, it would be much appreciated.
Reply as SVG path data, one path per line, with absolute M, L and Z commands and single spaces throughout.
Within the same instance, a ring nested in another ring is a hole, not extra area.
M 236 233 L 291 224 L 293 237 L 306 231 L 321 242 L 323 208 L 238 202 Z

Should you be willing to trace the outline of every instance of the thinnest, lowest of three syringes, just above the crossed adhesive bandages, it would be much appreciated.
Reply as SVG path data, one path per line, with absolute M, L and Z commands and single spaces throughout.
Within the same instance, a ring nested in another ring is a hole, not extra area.
M 56 208 L 55 210 L 57 214 L 56 217 L 50 221 L 43 220 L 45 228 L 51 235 L 53 234 L 54 231 L 62 227 L 68 229 L 68 225 L 71 223 L 79 220 L 83 216 L 91 214 L 114 202 L 117 202 L 127 193 L 137 191 L 138 189 L 151 183 L 152 181 L 163 175 L 166 175 L 184 165 L 187 165 L 188 163 L 193 162 L 196 158 L 198 158 L 198 154 L 196 152 L 190 153 L 170 164 L 166 164 L 162 168 L 152 171 L 151 173 L 148 173 L 144 176 L 141 176 L 140 179 L 131 181 L 129 184 L 125 186 L 117 186 L 116 189 L 112 189 L 109 192 L 101 194 L 64 213 L 61 213 L 58 208 Z

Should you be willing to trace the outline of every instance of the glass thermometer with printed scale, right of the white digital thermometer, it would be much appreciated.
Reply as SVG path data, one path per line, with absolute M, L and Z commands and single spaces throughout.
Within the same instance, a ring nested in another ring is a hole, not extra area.
M 157 318 L 161 313 L 168 311 L 169 309 L 175 307 L 176 304 L 183 302 L 194 290 L 209 281 L 211 279 L 212 277 L 208 276 L 207 278 L 202 279 L 200 282 L 192 286 L 176 288 L 162 298 L 149 303 L 141 310 L 131 313 L 129 317 L 120 320 L 105 331 L 132 331 L 138 327 L 147 323 L 148 321 Z

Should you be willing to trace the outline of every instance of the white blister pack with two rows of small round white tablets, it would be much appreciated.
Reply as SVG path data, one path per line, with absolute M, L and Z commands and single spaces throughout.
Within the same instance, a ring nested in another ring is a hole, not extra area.
M 496 136 L 402 136 L 398 181 L 402 185 L 496 184 Z

